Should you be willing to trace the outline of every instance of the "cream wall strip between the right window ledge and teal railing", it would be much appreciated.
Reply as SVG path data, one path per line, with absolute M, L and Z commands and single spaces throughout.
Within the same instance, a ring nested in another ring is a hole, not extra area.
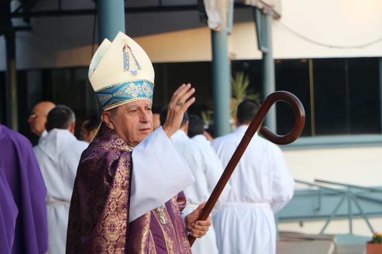
M 293 177 L 361 186 L 382 186 L 382 147 L 283 151 Z

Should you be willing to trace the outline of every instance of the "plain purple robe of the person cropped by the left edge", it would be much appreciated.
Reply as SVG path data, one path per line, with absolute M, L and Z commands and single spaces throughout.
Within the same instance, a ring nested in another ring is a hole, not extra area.
M 0 252 L 48 250 L 47 189 L 30 141 L 0 124 Z

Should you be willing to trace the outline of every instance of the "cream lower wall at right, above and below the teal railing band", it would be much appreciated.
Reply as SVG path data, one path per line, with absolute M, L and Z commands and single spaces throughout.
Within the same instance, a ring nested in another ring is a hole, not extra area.
M 287 150 L 283 153 L 293 177 L 297 180 L 315 183 L 314 180 L 319 179 L 363 187 L 382 186 L 382 147 Z M 324 186 L 339 188 L 334 185 Z M 296 190 L 307 188 L 306 185 L 296 183 Z M 318 234 L 325 222 L 309 221 L 302 225 L 299 222 L 282 222 L 278 224 L 278 229 Z M 369 222 L 375 231 L 381 230 L 382 218 L 372 218 Z M 354 219 L 352 230 L 355 235 L 372 236 L 364 219 Z M 332 220 L 324 231 L 324 234 L 348 233 L 349 221 L 343 219 Z

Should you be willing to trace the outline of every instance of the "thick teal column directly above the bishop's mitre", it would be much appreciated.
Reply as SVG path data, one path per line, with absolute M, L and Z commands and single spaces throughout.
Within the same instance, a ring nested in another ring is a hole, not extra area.
M 113 41 L 119 31 L 125 33 L 124 0 L 97 0 L 98 44 Z

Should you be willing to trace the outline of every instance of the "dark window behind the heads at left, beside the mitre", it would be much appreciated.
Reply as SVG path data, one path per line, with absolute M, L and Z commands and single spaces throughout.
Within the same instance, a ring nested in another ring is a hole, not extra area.
M 98 104 L 87 78 L 87 67 L 19 71 L 18 111 L 19 132 L 33 144 L 37 137 L 30 132 L 27 122 L 33 106 L 41 101 L 52 101 L 70 107 L 76 116 L 75 135 L 78 136 L 82 119 L 99 114 Z

